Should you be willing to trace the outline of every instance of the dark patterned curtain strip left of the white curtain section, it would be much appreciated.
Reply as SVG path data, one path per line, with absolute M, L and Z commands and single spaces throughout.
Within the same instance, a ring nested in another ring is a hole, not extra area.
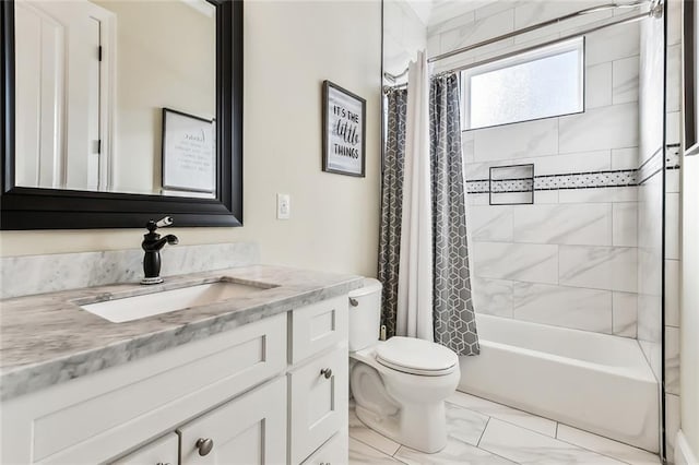
M 389 91 L 387 98 L 388 128 L 381 182 L 379 281 L 383 285 L 381 296 L 381 324 L 386 324 L 387 336 L 392 337 L 395 335 L 398 307 L 398 270 L 401 251 L 407 91 Z

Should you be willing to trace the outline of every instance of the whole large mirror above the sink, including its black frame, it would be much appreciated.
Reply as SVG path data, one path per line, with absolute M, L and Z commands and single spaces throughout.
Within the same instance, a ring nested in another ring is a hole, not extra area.
M 241 226 L 241 0 L 3 0 L 0 23 L 0 229 Z

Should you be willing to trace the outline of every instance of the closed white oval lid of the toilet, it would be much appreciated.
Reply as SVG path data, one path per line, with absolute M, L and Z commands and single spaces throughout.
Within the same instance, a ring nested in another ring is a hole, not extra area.
M 412 374 L 439 377 L 454 371 L 459 357 L 429 341 L 395 336 L 376 348 L 379 363 Z

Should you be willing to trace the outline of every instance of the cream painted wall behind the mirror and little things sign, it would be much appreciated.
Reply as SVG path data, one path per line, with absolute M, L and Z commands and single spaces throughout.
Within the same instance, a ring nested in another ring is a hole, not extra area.
M 265 263 L 376 275 L 381 4 L 246 2 L 245 226 L 173 228 L 180 243 L 258 241 Z M 321 171 L 323 80 L 367 100 L 366 178 Z M 275 193 L 292 218 L 275 219 Z M 140 247 L 143 230 L 2 231 L 3 257 Z

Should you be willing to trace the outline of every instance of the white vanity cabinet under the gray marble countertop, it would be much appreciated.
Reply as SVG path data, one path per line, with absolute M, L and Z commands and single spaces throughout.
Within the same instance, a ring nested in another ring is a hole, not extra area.
M 342 295 L 5 401 L 0 463 L 346 463 L 347 311 Z

